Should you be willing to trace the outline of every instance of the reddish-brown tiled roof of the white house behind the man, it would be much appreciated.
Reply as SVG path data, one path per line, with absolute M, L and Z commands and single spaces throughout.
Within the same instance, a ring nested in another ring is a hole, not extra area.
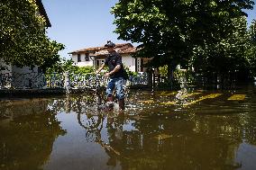
M 96 52 L 95 56 L 99 56 L 99 55 L 106 54 L 105 49 L 107 49 L 107 48 L 105 48 L 104 46 L 87 48 L 87 49 L 79 49 L 79 50 L 72 51 L 69 54 Z M 115 44 L 115 49 L 117 49 L 117 52 L 119 52 L 120 54 L 133 53 L 136 51 L 136 48 L 134 48 L 131 43 Z

